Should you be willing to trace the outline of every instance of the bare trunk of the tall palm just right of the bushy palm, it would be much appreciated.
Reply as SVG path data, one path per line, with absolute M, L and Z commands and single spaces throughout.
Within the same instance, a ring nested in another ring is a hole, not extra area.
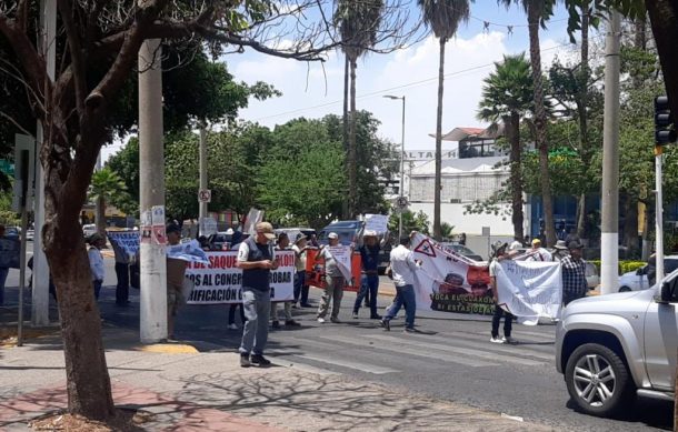
M 539 173 L 541 179 L 541 202 L 544 204 L 544 223 L 546 229 L 546 245 L 556 244 L 556 225 L 554 224 L 554 201 L 551 199 L 551 182 L 549 180 L 549 145 L 546 140 L 546 109 L 544 108 L 544 77 L 541 76 L 541 54 L 539 52 L 539 19 L 537 8 L 529 7 L 528 23 L 530 36 L 530 61 L 532 80 L 535 82 L 535 130 L 536 143 L 539 150 Z

